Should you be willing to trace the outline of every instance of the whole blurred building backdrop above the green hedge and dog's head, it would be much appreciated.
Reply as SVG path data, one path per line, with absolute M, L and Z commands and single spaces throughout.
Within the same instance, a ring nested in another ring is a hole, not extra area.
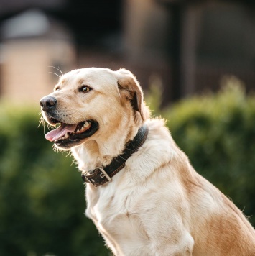
M 50 66 L 63 72 L 90 66 L 127 68 L 143 88 L 161 86 L 164 104 L 217 90 L 226 75 L 243 80 L 248 91 L 254 88 L 253 1 L 9 0 L 0 4 L 1 97 L 16 100 L 34 95 L 37 100 L 50 93 L 57 76 L 48 72 L 58 72 Z M 37 10 L 29 11 L 32 7 Z

